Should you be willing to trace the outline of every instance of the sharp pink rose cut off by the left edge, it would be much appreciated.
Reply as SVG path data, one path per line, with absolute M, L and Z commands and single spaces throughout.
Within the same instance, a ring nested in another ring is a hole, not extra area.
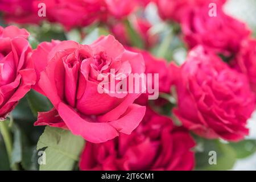
M 0 27 L 0 120 L 6 118 L 35 84 L 28 36 L 23 28 Z

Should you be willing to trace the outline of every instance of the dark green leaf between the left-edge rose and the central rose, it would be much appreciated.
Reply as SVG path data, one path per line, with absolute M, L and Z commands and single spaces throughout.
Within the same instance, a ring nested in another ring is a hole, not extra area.
M 36 92 L 35 90 L 30 90 L 30 92 L 28 92 L 26 96 L 28 104 L 30 105 L 32 113 L 35 117 L 37 117 L 38 112 L 48 111 L 52 109 L 52 104 L 48 100 L 48 98 Z

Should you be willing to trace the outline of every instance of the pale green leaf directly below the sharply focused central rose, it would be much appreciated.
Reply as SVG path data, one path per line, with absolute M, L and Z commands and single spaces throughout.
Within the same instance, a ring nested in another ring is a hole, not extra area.
M 37 150 L 44 150 L 46 164 L 40 170 L 71 170 L 84 147 L 84 139 L 68 130 L 47 126 L 39 138 Z

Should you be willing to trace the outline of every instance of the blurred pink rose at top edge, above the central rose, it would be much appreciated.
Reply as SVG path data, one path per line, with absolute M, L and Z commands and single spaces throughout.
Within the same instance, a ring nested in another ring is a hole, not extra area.
M 67 30 L 106 18 L 104 0 L 34 0 L 34 10 L 38 10 L 39 3 L 46 4 L 46 18 L 50 22 L 61 23 Z

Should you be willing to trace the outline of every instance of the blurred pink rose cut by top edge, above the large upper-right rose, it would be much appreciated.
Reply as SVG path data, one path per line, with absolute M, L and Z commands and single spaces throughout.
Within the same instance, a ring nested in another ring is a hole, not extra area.
M 155 2 L 162 19 L 180 22 L 191 9 L 208 7 L 210 3 L 216 3 L 217 8 L 220 8 L 226 0 L 155 0 Z

